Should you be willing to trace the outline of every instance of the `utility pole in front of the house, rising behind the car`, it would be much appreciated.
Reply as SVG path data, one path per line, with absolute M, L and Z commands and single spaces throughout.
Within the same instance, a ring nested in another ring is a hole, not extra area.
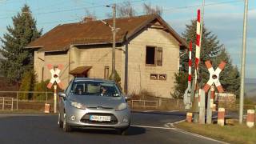
M 111 78 L 113 80 L 114 79 L 114 71 L 115 71 L 115 34 L 116 34 L 116 29 L 115 29 L 116 4 L 115 3 L 113 4 L 112 8 L 113 8 L 113 28 L 112 28 L 113 46 L 112 46 L 112 75 L 111 75 Z

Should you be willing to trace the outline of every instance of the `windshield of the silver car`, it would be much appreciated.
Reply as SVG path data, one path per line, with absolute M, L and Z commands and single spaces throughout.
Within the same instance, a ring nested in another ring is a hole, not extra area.
M 119 97 L 118 87 L 114 82 L 75 81 L 71 92 L 76 95 L 94 95 L 106 97 Z

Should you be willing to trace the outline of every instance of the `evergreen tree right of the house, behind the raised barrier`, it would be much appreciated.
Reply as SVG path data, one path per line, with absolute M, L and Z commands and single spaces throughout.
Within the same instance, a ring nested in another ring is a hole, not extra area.
M 190 25 L 186 25 L 186 30 L 182 34 L 183 38 L 186 39 L 186 42 L 189 43 L 190 41 L 193 43 L 192 46 L 192 75 L 194 75 L 194 59 L 195 59 L 195 43 L 196 43 L 196 25 L 197 21 L 192 20 Z M 186 53 L 186 50 L 183 50 L 182 53 Z M 225 69 L 222 71 L 220 74 L 220 82 L 222 83 L 222 87 L 226 92 L 234 93 L 238 95 L 238 90 L 239 90 L 239 73 L 237 67 L 232 65 L 232 62 L 230 60 L 229 54 L 226 52 L 226 49 L 220 42 L 218 41 L 218 38 L 215 34 L 212 34 L 211 31 L 206 30 L 205 26 L 202 28 L 202 42 L 201 42 L 201 55 L 200 55 L 200 65 L 199 65 L 199 70 L 200 70 L 200 75 L 202 78 L 202 86 L 206 84 L 206 82 L 209 79 L 209 72 L 205 66 L 205 62 L 207 60 L 210 60 L 212 62 L 212 65 L 214 67 L 214 70 L 218 67 L 218 64 L 221 61 L 226 62 Z M 184 54 L 180 58 L 180 62 L 182 65 L 181 71 L 188 73 L 188 53 Z M 184 74 L 184 73 L 181 73 Z M 181 74 L 175 74 L 174 76 L 176 77 L 176 82 L 174 86 L 174 93 L 173 94 L 178 94 L 178 98 L 181 98 L 184 94 L 183 93 L 178 93 L 177 87 L 180 86 L 187 86 L 186 84 L 182 82 L 181 79 L 177 78 L 186 78 L 186 75 L 182 77 Z M 178 77 L 177 77 L 178 75 Z M 177 86 L 180 85 L 180 86 Z M 183 88 L 184 89 L 184 88 Z M 172 94 L 172 95 L 173 95 Z

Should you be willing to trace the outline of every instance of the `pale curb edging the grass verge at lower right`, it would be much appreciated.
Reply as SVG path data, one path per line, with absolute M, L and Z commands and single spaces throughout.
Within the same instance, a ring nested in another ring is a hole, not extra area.
M 165 126 L 168 126 L 170 128 L 173 128 L 172 130 L 176 130 L 178 132 L 181 132 L 183 134 L 190 134 L 190 135 L 193 135 L 195 137 L 198 137 L 198 138 L 204 138 L 204 139 L 207 139 L 207 140 L 210 140 L 210 141 L 214 141 L 214 142 L 219 142 L 219 143 L 223 143 L 223 144 L 229 144 L 228 142 L 222 142 L 222 141 L 219 141 L 217 139 L 214 139 L 214 138 L 209 138 L 209 137 L 206 137 L 206 136 L 203 136 L 203 135 L 200 135 L 200 134 L 194 134 L 194 133 L 191 133 L 189 131 L 186 131 L 186 130 L 182 130 L 182 129 L 179 129 L 178 127 L 174 126 L 174 124 L 178 124 L 180 122 L 185 122 L 186 120 L 181 120 L 181 121 L 178 121 L 178 122 L 173 122 L 173 123 L 166 123 Z

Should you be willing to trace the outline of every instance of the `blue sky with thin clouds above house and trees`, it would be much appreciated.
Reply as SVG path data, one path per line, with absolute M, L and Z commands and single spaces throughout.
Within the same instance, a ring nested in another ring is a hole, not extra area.
M 106 5 L 122 4 L 127 0 L 0 0 L 0 37 L 6 33 L 6 26 L 12 26 L 12 17 L 20 12 L 26 3 L 43 33 L 63 23 L 79 22 L 86 11 L 98 19 L 105 19 L 111 8 Z M 246 78 L 256 78 L 256 0 L 249 1 L 246 45 Z M 143 14 L 142 4 L 162 6 L 162 18 L 179 34 L 197 17 L 202 0 L 130 0 L 136 14 Z M 244 0 L 205 0 L 203 22 L 206 28 L 218 36 L 232 58 L 234 65 L 241 67 L 242 27 Z M 0 42 L 0 45 L 2 43 Z

